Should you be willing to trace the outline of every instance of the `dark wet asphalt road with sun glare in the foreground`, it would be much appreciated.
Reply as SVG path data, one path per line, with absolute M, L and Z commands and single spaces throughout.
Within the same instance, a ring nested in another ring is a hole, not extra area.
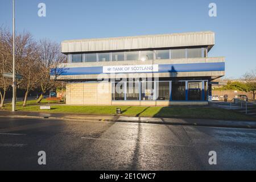
M 256 130 L 0 117 L 0 169 L 255 170 Z

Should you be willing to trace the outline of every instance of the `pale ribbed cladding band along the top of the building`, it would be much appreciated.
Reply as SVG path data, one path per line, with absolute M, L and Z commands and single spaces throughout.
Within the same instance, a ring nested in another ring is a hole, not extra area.
M 65 40 L 61 52 L 117 51 L 126 49 L 214 45 L 214 32 L 144 35 L 119 38 Z

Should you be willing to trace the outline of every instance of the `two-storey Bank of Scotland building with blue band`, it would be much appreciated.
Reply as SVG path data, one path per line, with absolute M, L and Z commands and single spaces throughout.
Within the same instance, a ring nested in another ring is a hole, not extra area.
M 207 105 L 225 58 L 208 57 L 214 32 L 65 40 L 67 105 Z

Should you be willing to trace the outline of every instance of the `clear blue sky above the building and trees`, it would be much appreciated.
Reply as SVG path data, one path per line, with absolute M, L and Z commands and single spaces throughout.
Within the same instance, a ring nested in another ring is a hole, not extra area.
M 104 38 L 191 31 L 214 31 L 209 56 L 226 57 L 226 77 L 239 78 L 256 69 L 256 1 L 238 0 L 15 0 L 16 31 L 35 39 Z M 46 4 L 46 17 L 38 4 Z M 209 17 L 208 5 L 217 5 Z M 11 28 L 12 1 L 0 1 L 0 25 Z

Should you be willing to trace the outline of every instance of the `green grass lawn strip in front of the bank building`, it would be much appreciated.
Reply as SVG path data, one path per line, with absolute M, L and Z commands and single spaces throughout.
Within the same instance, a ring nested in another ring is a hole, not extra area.
M 75 113 L 75 114 L 115 114 L 117 107 L 122 109 L 122 115 L 137 117 L 167 117 L 167 118 L 209 118 L 209 119 L 232 119 L 232 120 L 251 120 L 256 118 L 237 113 L 232 110 L 211 108 L 211 107 L 156 107 L 156 106 L 69 106 L 52 105 L 51 110 L 40 110 L 36 101 L 28 101 L 26 107 L 22 102 L 17 102 L 18 111 L 40 111 L 48 113 Z M 43 100 L 42 104 L 48 101 Z M 2 110 L 10 110 L 11 105 L 6 104 Z

